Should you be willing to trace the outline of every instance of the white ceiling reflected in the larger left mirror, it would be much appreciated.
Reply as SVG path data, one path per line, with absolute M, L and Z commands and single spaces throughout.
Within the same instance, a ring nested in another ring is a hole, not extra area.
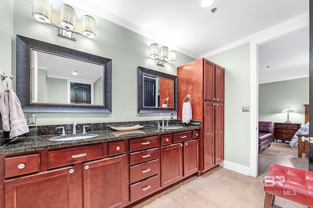
M 38 68 L 46 70 L 48 77 L 91 83 L 103 76 L 103 65 L 44 52 L 38 52 Z M 75 71 L 77 75 L 72 74 Z

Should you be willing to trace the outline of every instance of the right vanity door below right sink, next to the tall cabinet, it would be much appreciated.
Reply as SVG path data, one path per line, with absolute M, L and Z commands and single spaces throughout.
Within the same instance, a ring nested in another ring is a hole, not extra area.
M 199 140 L 184 142 L 184 177 L 191 175 L 199 170 Z

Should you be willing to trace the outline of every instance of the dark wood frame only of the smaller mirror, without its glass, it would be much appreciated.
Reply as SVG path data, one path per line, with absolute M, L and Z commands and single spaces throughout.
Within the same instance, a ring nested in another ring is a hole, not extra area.
M 173 108 L 166 107 L 145 107 L 143 105 L 143 75 L 150 75 L 168 80 L 173 80 L 174 83 L 174 106 Z M 158 72 L 152 69 L 147 69 L 138 66 L 138 113 L 177 113 L 178 112 L 178 77 Z

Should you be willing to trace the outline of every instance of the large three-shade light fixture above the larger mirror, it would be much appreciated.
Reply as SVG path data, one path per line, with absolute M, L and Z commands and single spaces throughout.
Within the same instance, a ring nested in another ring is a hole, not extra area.
M 76 41 L 76 34 L 82 35 L 88 38 L 95 37 L 95 20 L 88 16 L 82 16 L 82 32 L 75 31 L 75 10 L 67 5 L 63 4 L 60 10 L 59 24 L 51 23 L 52 3 L 49 0 L 33 0 L 32 15 L 37 21 L 58 28 L 58 36 L 62 36 Z

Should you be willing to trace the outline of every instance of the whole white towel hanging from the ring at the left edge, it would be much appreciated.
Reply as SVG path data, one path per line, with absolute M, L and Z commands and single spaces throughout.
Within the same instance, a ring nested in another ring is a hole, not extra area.
M 19 98 L 12 90 L 1 93 L 0 113 L 3 130 L 10 131 L 10 139 L 29 132 Z

